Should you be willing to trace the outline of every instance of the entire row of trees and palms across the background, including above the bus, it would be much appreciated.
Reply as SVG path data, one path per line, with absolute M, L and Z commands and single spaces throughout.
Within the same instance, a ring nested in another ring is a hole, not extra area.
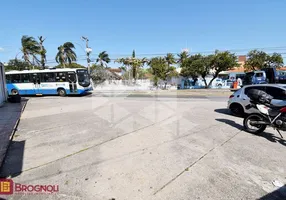
M 6 69 L 24 70 L 31 69 L 31 67 L 44 69 L 47 61 L 44 41 L 42 36 L 38 37 L 38 40 L 34 37 L 23 36 L 21 38 L 23 60 L 10 60 Z M 84 66 L 76 63 L 77 55 L 74 50 L 75 46 L 72 42 L 65 42 L 60 45 L 55 57 L 55 61 L 58 63 L 56 67 L 84 68 Z M 251 50 L 246 58 L 244 65 L 246 71 L 259 70 L 265 67 L 280 68 L 284 64 L 283 57 L 279 53 L 268 54 L 264 51 Z M 111 59 L 106 51 L 99 53 L 91 67 L 92 77 L 96 80 L 108 79 L 105 71 L 110 62 Z M 172 77 L 180 75 L 193 79 L 201 77 L 206 87 L 210 87 L 220 72 L 240 66 L 236 54 L 218 50 L 210 55 L 190 55 L 187 51 L 183 51 L 177 55 L 167 53 L 166 56 L 153 58 L 138 58 L 133 50 L 131 57 L 118 58 L 114 62 L 121 65 L 120 69 L 125 72 L 124 79 L 136 82 L 138 78 L 146 78 L 145 75 L 149 74 L 148 78 L 151 78 L 155 85 L 158 85 L 159 80 L 161 80 L 165 86 Z M 178 72 L 176 68 L 181 68 L 181 70 Z M 211 77 L 208 84 L 207 77 Z

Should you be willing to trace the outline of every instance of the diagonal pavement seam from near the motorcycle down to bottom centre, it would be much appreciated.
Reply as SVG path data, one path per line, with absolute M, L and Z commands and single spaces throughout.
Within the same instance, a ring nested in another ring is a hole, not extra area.
M 198 163 L 199 161 L 201 161 L 204 157 L 206 157 L 209 153 L 211 153 L 213 150 L 215 150 L 217 147 L 222 147 L 223 145 L 225 145 L 227 142 L 229 142 L 231 139 L 233 139 L 235 136 L 237 136 L 242 130 L 238 131 L 237 133 L 235 133 L 233 136 L 231 136 L 229 139 L 227 139 L 226 141 L 224 141 L 223 143 L 221 143 L 218 146 L 214 146 L 212 149 L 210 149 L 207 153 L 205 153 L 204 155 L 202 155 L 201 157 L 199 157 L 195 162 L 193 162 L 191 165 L 189 165 L 188 167 L 186 167 L 183 171 L 181 171 L 177 176 L 175 176 L 174 178 L 172 178 L 170 181 L 168 181 L 165 185 L 163 185 L 161 188 L 159 188 L 157 191 L 155 191 L 153 193 L 153 195 L 158 194 L 160 191 L 162 191 L 165 187 L 167 187 L 168 185 L 170 185 L 172 182 L 174 182 L 177 178 L 179 178 L 182 174 L 184 174 L 186 171 L 188 171 L 191 167 L 193 167 L 196 163 Z

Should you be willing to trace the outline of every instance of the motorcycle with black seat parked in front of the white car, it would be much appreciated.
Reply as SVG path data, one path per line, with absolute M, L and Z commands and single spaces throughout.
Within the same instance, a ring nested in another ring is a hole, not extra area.
M 271 95 L 257 89 L 250 90 L 247 96 L 250 104 L 246 109 L 256 108 L 259 113 L 252 113 L 244 118 L 244 129 L 249 133 L 260 134 L 267 126 L 271 126 L 283 138 L 280 131 L 286 131 L 286 102 L 285 105 L 274 105 L 271 103 Z

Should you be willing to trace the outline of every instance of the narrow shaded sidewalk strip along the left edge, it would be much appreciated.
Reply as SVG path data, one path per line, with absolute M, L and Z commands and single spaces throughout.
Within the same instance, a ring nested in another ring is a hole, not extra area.
M 0 107 L 0 168 L 27 101 L 22 99 L 21 103 L 5 103 Z

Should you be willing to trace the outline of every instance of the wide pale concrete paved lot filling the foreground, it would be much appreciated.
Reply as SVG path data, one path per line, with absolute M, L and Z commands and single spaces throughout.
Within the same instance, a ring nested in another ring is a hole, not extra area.
M 286 183 L 286 142 L 242 130 L 227 98 L 30 98 L 2 174 L 45 199 L 259 199 Z M 14 195 L 12 199 L 40 199 Z

